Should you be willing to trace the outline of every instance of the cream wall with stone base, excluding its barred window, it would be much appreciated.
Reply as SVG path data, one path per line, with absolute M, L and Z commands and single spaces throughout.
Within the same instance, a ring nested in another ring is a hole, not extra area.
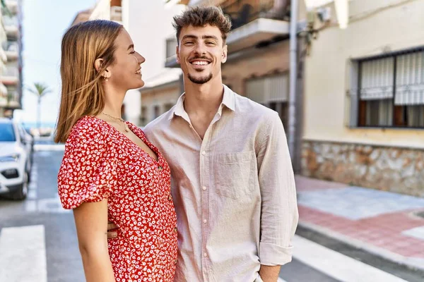
M 330 6 L 335 15 L 334 4 Z M 353 82 L 352 59 L 423 46 L 416 27 L 424 26 L 424 1 L 353 0 L 349 9 L 348 28 L 332 24 L 319 32 L 305 59 L 302 171 L 317 178 L 423 195 L 423 188 L 416 191 L 423 177 L 421 153 L 416 152 L 424 149 L 424 131 L 349 128 L 347 93 Z M 365 153 L 364 145 L 369 145 Z M 329 158 L 334 154 L 344 157 Z M 382 164 L 375 165 L 379 158 Z

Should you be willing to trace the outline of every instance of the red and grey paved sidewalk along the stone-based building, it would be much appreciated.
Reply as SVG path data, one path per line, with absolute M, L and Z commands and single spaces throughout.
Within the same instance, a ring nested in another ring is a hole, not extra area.
M 424 198 L 295 178 L 300 226 L 424 270 Z

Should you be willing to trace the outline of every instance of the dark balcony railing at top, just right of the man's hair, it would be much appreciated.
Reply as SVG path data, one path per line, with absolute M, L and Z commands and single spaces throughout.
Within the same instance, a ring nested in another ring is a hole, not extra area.
M 289 0 L 227 0 L 220 7 L 230 16 L 234 30 L 257 18 L 288 20 L 288 4 Z

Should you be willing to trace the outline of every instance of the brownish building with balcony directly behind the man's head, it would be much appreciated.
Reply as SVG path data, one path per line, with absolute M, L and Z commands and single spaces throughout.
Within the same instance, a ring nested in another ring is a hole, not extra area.
M 180 1 L 182 3 L 182 1 Z M 188 6 L 220 6 L 232 21 L 232 30 L 227 38 L 228 60 L 222 66 L 223 83 L 243 96 L 277 111 L 285 127 L 288 125 L 289 102 L 289 27 L 290 1 L 288 0 L 192 0 L 184 1 Z M 305 20 L 305 2 L 298 1 L 300 23 Z M 165 66 L 179 68 L 176 61 L 175 32 L 167 37 Z M 302 85 L 301 75 L 298 83 Z M 147 122 L 163 114 L 184 92 L 182 76 L 179 80 L 165 80 L 146 90 L 141 90 L 143 101 L 155 101 L 149 106 L 143 103 L 142 114 Z M 170 90 L 172 88 L 172 91 Z M 166 96 L 167 95 L 167 96 Z M 298 97 L 302 90 L 298 91 Z M 155 99 L 154 97 L 158 97 Z M 160 97 L 160 98 L 159 98 Z M 301 120 L 302 111 L 297 119 Z M 300 140 L 297 131 L 296 140 Z M 297 142 L 300 144 L 300 142 Z M 300 168 L 300 147 L 295 148 L 293 161 Z

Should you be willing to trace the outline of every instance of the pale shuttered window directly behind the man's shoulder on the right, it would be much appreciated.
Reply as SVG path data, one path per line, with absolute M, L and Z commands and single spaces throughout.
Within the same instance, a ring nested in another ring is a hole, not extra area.
M 252 78 L 246 81 L 246 97 L 278 112 L 288 126 L 288 73 Z

